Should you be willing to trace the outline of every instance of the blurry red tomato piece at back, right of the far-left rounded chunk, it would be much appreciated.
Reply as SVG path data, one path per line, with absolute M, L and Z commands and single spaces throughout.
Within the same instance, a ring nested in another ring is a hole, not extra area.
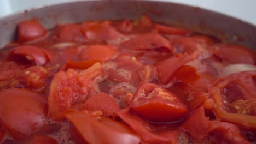
M 82 28 L 76 24 L 57 27 L 56 35 L 62 41 L 85 41 Z

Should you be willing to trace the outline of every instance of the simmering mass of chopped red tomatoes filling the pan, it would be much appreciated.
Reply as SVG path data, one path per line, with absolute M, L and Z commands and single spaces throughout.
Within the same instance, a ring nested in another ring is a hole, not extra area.
M 0 143 L 255 143 L 255 60 L 146 15 L 20 22 L 0 50 Z

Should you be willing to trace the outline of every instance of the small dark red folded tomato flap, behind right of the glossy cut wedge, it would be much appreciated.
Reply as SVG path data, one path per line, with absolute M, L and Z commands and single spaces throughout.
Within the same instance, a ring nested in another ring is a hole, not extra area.
M 196 69 L 190 65 L 182 65 L 176 72 L 176 78 L 184 83 L 190 83 L 200 79 Z

